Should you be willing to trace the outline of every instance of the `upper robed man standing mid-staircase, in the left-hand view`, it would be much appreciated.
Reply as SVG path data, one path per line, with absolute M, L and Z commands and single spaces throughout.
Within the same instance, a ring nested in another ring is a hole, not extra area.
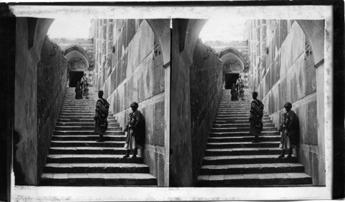
M 109 113 L 109 103 L 106 99 L 103 99 L 103 90 L 98 92 L 99 100 L 96 103 L 96 113 L 95 113 L 95 133 L 99 135 L 97 142 L 103 142 L 103 135 L 106 134 L 108 128 L 108 113 Z

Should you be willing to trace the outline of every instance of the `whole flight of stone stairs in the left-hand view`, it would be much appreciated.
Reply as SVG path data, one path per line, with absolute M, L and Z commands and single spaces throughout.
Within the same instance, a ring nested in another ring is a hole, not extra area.
M 41 175 L 41 185 L 157 185 L 141 156 L 123 159 L 126 137 L 110 114 L 105 142 L 96 142 L 95 106 L 97 91 L 90 99 L 75 99 L 75 88 L 68 88 L 52 135 L 49 155 Z M 132 155 L 131 155 L 132 156 Z

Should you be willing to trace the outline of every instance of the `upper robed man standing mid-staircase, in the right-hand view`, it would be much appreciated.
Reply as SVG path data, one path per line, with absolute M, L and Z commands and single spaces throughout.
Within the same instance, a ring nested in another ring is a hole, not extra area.
M 262 117 L 264 117 L 264 104 L 257 99 L 257 92 L 253 92 L 253 101 L 250 105 L 250 132 L 254 135 L 255 139 L 252 143 L 259 143 L 259 134 L 262 132 L 263 123 Z

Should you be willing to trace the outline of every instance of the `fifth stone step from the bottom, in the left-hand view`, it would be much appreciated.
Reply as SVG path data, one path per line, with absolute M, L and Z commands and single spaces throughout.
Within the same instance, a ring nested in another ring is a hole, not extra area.
M 123 148 L 125 141 L 51 141 L 51 147 L 103 147 L 103 148 Z

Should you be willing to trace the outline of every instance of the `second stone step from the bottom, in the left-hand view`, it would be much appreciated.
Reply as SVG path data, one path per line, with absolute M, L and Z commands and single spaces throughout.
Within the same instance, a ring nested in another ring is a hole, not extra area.
M 50 173 L 148 173 L 144 163 L 47 163 Z

